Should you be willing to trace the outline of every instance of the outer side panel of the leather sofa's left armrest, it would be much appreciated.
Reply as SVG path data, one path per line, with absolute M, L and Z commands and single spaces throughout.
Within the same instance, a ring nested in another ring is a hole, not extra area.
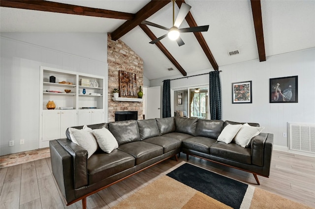
M 49 149 L 53 175 L 65 201 L 69 203 L 75 200 L 71 156 L 57 140 L 49 141 Z

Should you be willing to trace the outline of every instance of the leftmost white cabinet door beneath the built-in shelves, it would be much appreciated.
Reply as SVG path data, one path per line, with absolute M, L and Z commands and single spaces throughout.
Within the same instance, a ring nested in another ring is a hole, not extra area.
M 43 112 L 42 141 L 60 138 L 60 111 Z

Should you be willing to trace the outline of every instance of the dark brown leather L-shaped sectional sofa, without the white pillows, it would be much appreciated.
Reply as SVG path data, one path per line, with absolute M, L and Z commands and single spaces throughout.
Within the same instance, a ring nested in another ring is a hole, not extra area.
M 170 157 L 177 160 L 180 152 L 187 159 L 191 155 L 250 172 L 259 184 L 257 175 L 269 176 L 273 134 L 260 133 L 249 148 L 218 142 L 229 123 L 234 122 L 171 117 L 90 125 L 111 131 L 118 149 L 110 154 L 98 150 L 88 159 L 87 151 L 69 139 L 52 140 L 53 175 L 66 204 L 82 200 L 83 208 L 89 195 Z

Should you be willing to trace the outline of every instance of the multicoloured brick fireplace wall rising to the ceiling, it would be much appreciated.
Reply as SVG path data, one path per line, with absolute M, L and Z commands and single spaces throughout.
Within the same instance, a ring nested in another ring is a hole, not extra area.
M 113 89 L 119 88 L 119 70 L 137 76 L 137 88 L 143 86 L 143 60 L 121 40 L 113 41 L 107 34 L 108 63 L 108 122 L 115 121 L 115 111 L 138 111 L 138 120 L 143 119 L 142 102 L 114 102 Z

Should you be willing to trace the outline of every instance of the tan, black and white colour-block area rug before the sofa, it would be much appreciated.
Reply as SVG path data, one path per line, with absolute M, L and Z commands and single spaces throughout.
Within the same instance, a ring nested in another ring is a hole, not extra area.
M 185 163 L 114 209 L 311 209 L 279 195 Z

